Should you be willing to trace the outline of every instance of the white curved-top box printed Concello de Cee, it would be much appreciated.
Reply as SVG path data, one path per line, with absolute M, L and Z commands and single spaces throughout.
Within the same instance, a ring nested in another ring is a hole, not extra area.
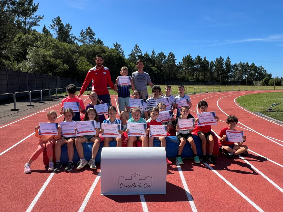
M 101 194 L 166 194 L 164 147 L 102 148 Z

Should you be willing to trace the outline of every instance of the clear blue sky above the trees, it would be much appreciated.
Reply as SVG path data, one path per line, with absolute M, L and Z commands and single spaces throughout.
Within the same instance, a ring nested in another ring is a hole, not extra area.
M 72 33 L 88 26 L 105 46 L 121 44 L 125 56 L 137 44 L 142 53 L 173 52 L 178 61 L 188 54 L 211 61 L 263 65 L 283 77 L 283 1 L 167 0 L 34 0 L 40 26 L 56 16 Z

